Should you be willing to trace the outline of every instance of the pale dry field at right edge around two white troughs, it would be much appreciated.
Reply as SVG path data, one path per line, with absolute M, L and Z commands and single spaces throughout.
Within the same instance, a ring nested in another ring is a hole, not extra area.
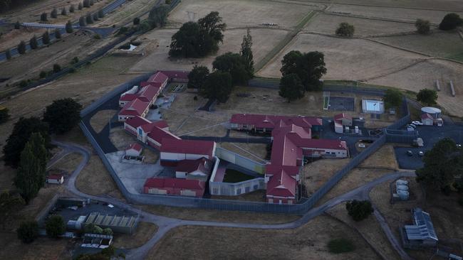
M 437 102 L 449 114 L 460 117 L 463 112 L 462 71 L 462 64 L 447 60 L 432 59 L 368 82 L 418 92 L 424 88 L 437 90 L 435 80 L 439 80 L 441 91 L 437 92 L 439 96 Z M 454 82 L 456 97 L 452 97 L 449 80 L 453 80 Z

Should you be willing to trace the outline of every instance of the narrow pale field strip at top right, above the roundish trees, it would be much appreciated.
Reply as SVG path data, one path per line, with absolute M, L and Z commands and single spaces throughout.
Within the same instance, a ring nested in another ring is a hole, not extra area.
M 420 5 L 420 7 L 423 7 Z M 462 8 L 460 6 L 459 10 Z M 415 22 L 417 18 L 429 20 L 431 23 L 440 23 L 442 18 L 449 11 L 435 11 L 426 9 L 402 9 L 394 7 L 378 7 L 378 6 L 358 6 L 348 4 L 333 4 L 328 11 L 344 14 L 353 14 L 357 16 L 385 18 L 397 21 Z M 457 12 L 458 13 L 458 12 Z M 460 12 L 461 16 L 462 13 Z M 368 23 L 368 22 L 367 22 Z

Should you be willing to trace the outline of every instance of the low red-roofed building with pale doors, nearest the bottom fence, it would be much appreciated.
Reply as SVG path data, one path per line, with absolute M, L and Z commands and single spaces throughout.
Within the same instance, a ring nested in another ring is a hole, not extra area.
M 177 178 L 149 178 L 143 185 L 147 194 L 202 197 L 206 183 L 202 180 Z

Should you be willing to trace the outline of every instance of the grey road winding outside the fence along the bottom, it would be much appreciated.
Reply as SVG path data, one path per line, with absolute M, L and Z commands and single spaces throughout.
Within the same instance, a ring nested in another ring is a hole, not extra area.
M 368 199 L 369 198 L 368 194 L 370 193 L 370 190 L 380 183 L 384 183 L 385 181 L 388 181 L 388 180 L 395 180 L 396 178 L 400 178 L 400 177 L 415 176 L 415 173 L 410 173 L 410 172 L 388 173 L 378 179 L 371 181 L 370 183 L 367 183 L 358 188 L 350 190 L 348 193 L 344 193 L 343 195 L 334 197 L 331 200 L 328 200 L 327 202 L 323 203 L 323 205 L 314 207 L 313 209 L 306 212 L 306 214 L 304 214 L 301 218 L 299 218 L 296 221 L 287 222 L 283 224 L 249 224 L 249 223 L 180 220 L 180 219 L 175 219 L 171 217 L 163 217 L 163 216 L 153 215 L 148 212 L 144 212 L 136 207 L 133 207 L 127 202 L 123 202 L 113 197 L 95 196 L 95 195 L 89 195 L 89 194 L 80 192 L 80 190 L 76 188 L 76 178 L 79 175 L 80 171 L 85 167 L 85 165 L 90 160 L 90 151 L 88 151 L 87 148 L 78 146 L 76 144 L 63 143 L 59 141 L 52 141 L 52 143 L 56 146 L 60 146 L 61 148 L 63 148 L 63 151 L 61 151 L 60 153 L 58 153 L 56 156 L 54 156 L 51 159 L 49 166 L 53 165 L 53 163 L 56 163 L 57 161 L 59 161 L 59 159 L 63 158 L 69 153 L 80 153 L 83 156 L 83 160 L 79 163 L 76 170 L 73 171 L 71 176 L 69 176 L 68 180 L 66 181 L 65 185 L 68 191 L 70 191 L 71 193 L 79 197 L 90 198 L 92 200 L 99 200 L 102 202 L 111 203 L 125 210 L 139 212 L 140 217 L 142 217 L 142 220 L 144 222 L 151 222 L 157 225 L 158 230 L 153 235 L 153 237 L 151 237 L 150 240 L 148 240 L 144 245 L 142 245 L 142 247 L 131 249 L 127 254 L 127 259 L 144 259 L 144 257 L 150 251 L 150 249 L 152 249 L 152 247 L 154 247 L 155 244 L 157 244 L 157 242 L 159 242 L 160 239 L 162 239 L 162 237 L 164 237 L 164 235 L 168 231 L 170 231 L 170 229 L 173 229 L 175 227 L 189 225 L 189 226 L 209 226 L 209 227 L 239 227 L 239 228 L 250 228 L 250 229 L 294 229 L 297 227 L 301 227 L 303 224 L 306 224 L 307 222 L 312 220 L 314 217 L 317 217 L 318 215 L 323 214 L 323 212 L 325 212 L 326 210 L 329 210 L 331 209 L 331 207 L 334 207 L 335 205 L 338 205 L 342 202 L 345 202 L 348 200 Z M 387 226 L 385 222 L 383 222 L 383 224 Z M 381 224 L 382 227 L 383 227 L 383 224 Z M 385 227 L 383 227 L 383 229 L 385 229 Z M 389 227 L 387 227 L 386 229 L 389 229 Z M 388 239 L 390 239 L 390 241 L 391 239 L 395 239 L 392 232 L 389 232 L 389 233 L 385 232 L 385 233 Z M 396 239 L 395 241 L 397 242 Z M 400 247 L 400 244 L 392 244 L 392 246 L 397 250 L 398 254 L 402 256 L 402 259 L 410 259 L 410 257 L 407 256 L 405 251 L 403 251 L 402 247 Z M 401 251 L 404 254 L 401 254 L 402 253 Z

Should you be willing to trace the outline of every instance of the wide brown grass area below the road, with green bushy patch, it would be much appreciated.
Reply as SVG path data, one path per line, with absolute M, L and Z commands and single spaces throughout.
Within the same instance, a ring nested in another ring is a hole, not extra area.
M 207 243 L 198 237 L 207 237 Z M 355 251 L 331 254 L 326 244 L 343 237 Z M 182 244 L 182 250 L 175 244 Z M 198 250 L 200 249 L 200 250 Z M 262 230 L 223 227 L 177 227 L 158 243 L 147 259 L 378 259 L 352 229 L 320 216 L 297 229 Z

